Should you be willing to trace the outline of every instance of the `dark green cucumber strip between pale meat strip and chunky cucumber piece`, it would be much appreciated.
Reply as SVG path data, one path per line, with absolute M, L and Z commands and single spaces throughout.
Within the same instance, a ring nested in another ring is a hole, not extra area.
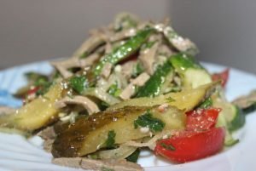
M 162 66 L 158 66 L 152 77 L 145 85 L 138 89 L 137 97 L 150 97 L 160 94 L 161 86 L 166 82 L 166 77 L 173 71 L 169 60 Z

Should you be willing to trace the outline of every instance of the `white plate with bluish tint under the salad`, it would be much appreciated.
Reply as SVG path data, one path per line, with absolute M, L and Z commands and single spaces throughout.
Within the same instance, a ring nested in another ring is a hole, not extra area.
M 225 68 L 224 66 L 207 63 L 204 63 L 204 66 L 211 72 L 222 71 Z M 48 62 L 39 62 L 0 71 L 0 89 L 15 93 L 17 88 L 26 84 L 23 76 L 26 71 L 38 71 L 48 74 L 52 71 L 52 68 Z M 230 81 L 227 84 L 226 91 L 228 100 L 233 100 L 241 94 L 247 94 L 252 89 L 256 89 L 256 77 L 253 74 L 231 69 Z M 246 126 L 236 133 L 240 143 L 230 149 L 225 149 L 215 156 L 195 162 L 173 164 L 160 157 L 156 158 L 154 155 L 150 155 L 148 151 L 143 151 L 138 162 L 146 171 L 255 170 L 255 119 L 256 113 L 248 115 Z M 43 141 L 39 137 L 26 140 L 15 134 L 0 134 L 0 170 L 80 170 L 51 164 L 52 157 L 42 149 L 42 143 Z

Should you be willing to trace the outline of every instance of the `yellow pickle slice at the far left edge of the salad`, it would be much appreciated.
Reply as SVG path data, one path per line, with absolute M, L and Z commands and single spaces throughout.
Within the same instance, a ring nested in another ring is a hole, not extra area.
M 17 128 L 32 132 L 46 126 L 55 120 L 58 111 L 55 109 L 55 101 L 61 98 L 61 83 L 55 83 L 44 96 L 24 105 L 14 114 L 0 117 L 0 127 Z

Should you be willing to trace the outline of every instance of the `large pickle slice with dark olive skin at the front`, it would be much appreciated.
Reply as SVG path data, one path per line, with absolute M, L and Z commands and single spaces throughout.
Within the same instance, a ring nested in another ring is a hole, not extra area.
M 141 131 L 134 127 L 134 121 L 142 116 L 148 107 L 127 106 L 125 108 L 102 111 L 87 118 L 80 117 L 76 123 L 67 126 L 65 131 L 56 137 L 52 153 L 54 157 L 81 157 L 105 147 L 108 132 L 114 131 L 115 144 L 128 140 L 137 140 L 149 136 L 151 132 Z M 153 117 L 165 123 L 164 130 L 182 129 L 185 114 L 174 107 L 164 112 L 158 107 L 150 109 Z

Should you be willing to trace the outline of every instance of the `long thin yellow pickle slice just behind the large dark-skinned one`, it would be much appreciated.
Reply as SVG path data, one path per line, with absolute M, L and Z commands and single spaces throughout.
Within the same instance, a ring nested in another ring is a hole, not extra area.
M 180 110 L 190 111 L 203 100 L 207 99 L 212 94 L 212 90 L 216 88 L 216 85 L 218 85 L 218 83 L 208 83 L 199 88 L 184 89 L 179 93 L 160 95 L 155 98 L 143 97 L 125 100 L 119 104 L 110 106 L 108 110 L 118 109 L 124 106 L 153 106 L 167 103 Z

